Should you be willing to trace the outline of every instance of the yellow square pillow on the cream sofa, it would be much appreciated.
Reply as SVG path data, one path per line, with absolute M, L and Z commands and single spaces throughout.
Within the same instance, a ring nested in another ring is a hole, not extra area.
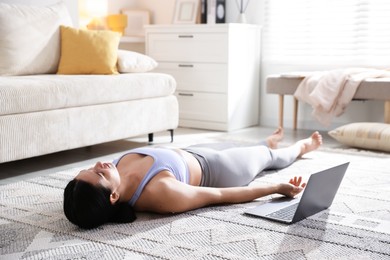
M 61 26 L 57 74 L 117 74 L 120 34 Z

